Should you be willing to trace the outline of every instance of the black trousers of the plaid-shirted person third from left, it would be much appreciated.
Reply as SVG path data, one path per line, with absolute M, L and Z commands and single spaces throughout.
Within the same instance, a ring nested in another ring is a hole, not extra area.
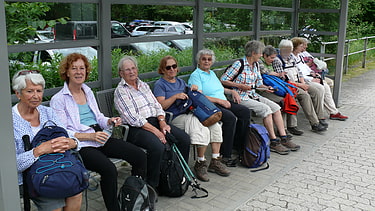
M 156 117 L 150 117 L 147 121 L 156 128 L 160 128 Z M 177 148 L 180 150 L 185 161 L 189 160 L 190 137 L 185 131 L 170 125 L 171 133 L 178 140 Z M 146 149 L 147 151 L 147 183 L 156 188 L 159 185 L 160 163 L 164 153 L 165 145 L 153 133 L 138 127 L 130 127 L 128 141 Z

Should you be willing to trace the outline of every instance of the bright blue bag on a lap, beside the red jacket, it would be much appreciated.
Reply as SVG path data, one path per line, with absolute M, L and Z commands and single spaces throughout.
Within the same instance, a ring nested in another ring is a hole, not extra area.
M 292 84 L 289 84 L 274 75 L 262 74 L 262 78 L 263 78 L 263 84 L 267 86 L 272 86 L 275 90 L 274 93 L 276 95 L 285 97 L 285 95 L 289 93 L 290 96 L 292 97 L 294 96 L 293 92 L 289 89 L 289 87 L 296 88 Z

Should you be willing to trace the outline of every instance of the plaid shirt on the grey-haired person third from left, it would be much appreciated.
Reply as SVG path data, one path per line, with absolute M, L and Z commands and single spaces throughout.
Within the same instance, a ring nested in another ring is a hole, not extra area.
M 114 93 L 114 102 L 123 123 L 142 127 L 147 118 L 165 116 L 165 112 L 147 83 L 138 79 L 137 86 L 135 89 L 121 79 Z

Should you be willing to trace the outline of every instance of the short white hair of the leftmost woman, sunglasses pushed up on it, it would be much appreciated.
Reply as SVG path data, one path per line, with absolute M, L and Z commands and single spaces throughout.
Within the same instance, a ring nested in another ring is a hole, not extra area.
M 26 80 L 31 81 L 31 83 L 35 85 L 42 85 L 43 89 L 45 88 L 46 81 L 44 80 L 42 74 L 30 72 L 25 75 L 20 75 L 20 73 L 23 71 L 28 71 L 28 70 L 19 70 L 13 75 L 13 78 L 12 78 L 13 91 L 17 91 L 21 93 L 22 89 L 26 88 Z

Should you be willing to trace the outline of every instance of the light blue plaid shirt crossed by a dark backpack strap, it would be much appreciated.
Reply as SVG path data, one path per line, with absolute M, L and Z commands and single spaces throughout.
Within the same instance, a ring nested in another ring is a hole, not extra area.
M 251 68 L 249 63 L 247 62 L 246 57 L 244 57 L 243 60 L 244 60 L 244 69 L 242 73 L 238 75 L 238 77 L 233 82 L 246 84 L 247 86 L 251 86 L 252 88 L 256 88 L 256 87 L 263 85 L 263 79 L 259 71 L 259 64 L 255 62 L 253 68 Z M 235 61 L 232 64 L 232 66 L 229 67 L 227 71 L 225 71 L 225 73 L 221 76 L 220 80 L 232 81 L 234 76 L 238 74 L 240 67 L 241 67 L 241 62 Z M 255 92 L 255 89 L 242 90 L 236 87 L 234 87 L 233 89 L 238 92 L 238 94 L 241 97 L 241 100 L 259 98 L 259 95 Z

